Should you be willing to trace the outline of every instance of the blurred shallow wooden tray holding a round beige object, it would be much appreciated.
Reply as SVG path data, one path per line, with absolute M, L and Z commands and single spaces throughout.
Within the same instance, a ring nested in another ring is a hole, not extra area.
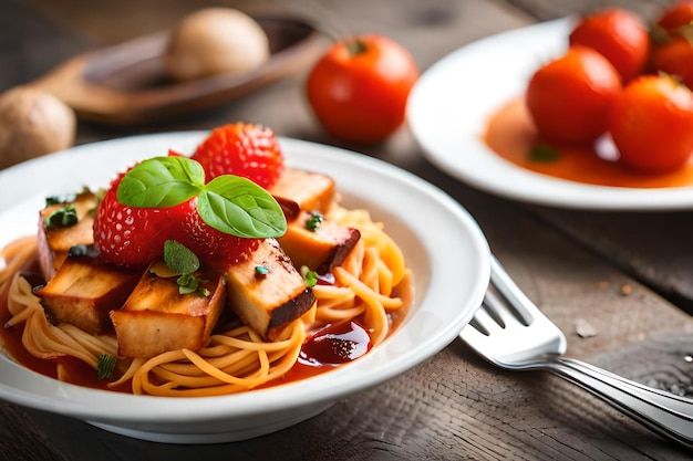
M 271 55 L 251 72 L 174 82 L 164 67 L 167 31 L 75 56 L 31 86 L 54 94 L 81 119 L 142 125 L 227 104 L 311 65 L 324 51 L 324 36 L 300 19 L 256 20 L 269 38 Z

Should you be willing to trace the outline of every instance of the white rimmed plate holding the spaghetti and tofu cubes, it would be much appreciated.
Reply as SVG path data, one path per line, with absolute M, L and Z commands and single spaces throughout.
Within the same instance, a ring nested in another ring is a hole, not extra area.
M 69 149 L 0 171 L 0 245 L 35 232 L 44 197 L 103 187 L 134 160 L 194 149 L 205 133 L 131 137 Z M 391 379 L 433 356 L 480 305 L 489 250 L 470 216 L 417 177 L 370 157 L 280 139 L 287 164 L 332 175 L 348 207 L 385 223 L 414 274 L 402 327 L 363 358 L 302 381 L 205 398 L 132 396 L 61 384 L 0 354 L 0 398 L 76 417 L 113 432 L 174 443 L 211 443 L 269 433 L 337 400 Z

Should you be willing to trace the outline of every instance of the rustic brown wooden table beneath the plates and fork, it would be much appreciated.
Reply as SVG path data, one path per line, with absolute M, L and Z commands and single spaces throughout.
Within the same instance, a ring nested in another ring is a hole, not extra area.
M 74 54 L 170 27 L 209 2 L 0 0 L 0 90 Z M 226 2 L 249 12 L 288 8 L 353 32 L 403 43 L 422 70 L 476 39 L 601 1 L 352 0 Z M 650 15 L 665 0 L 621 0 Z M 96 6 L 97 4 L 97 6 Z M 505 200 L 438 171 L 403 128 L 387 143 L 328 137 L 303 96 L 304 74 L 214 114 L 137 128 L 80 125 L 77 143 L 135 133 L 257 121 L 279 135 L 340 145 L 414 171 L 466 207 L 526 293 L 566 332 L 569 354 L 634 380 L 693 396 L 693 213 L 561 210 Z M 686 313 L 687 312 L 687 313 Z M 578 335 L 588 322 L 594 336 Z M 500 371 L 461 340 L 416 368 L 303 423 L 254 440 L 169 446 L 0 402 L 2 460 L 282 459 L 684 460 L 660 439 L 578 387 L 545 373 Z

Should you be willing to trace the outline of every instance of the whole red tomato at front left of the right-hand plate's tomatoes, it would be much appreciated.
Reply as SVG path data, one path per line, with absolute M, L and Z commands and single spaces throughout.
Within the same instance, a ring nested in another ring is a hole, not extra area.
M 604 56 L 575 45 L 535 72 L 526 103 L 545 140 L 588 144 L 607 130 L 607 107 L 621 88 L 619 73 Z

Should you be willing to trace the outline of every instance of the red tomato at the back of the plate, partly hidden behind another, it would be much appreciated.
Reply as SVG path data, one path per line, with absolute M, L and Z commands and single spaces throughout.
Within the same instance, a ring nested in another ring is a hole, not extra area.
M 650 53 L 647 25 L 634 13 L 619 8 L 582 18 L 570 33 L 569 43 L 589 46 L 603 54 L 623 82 L 643 73 Z

